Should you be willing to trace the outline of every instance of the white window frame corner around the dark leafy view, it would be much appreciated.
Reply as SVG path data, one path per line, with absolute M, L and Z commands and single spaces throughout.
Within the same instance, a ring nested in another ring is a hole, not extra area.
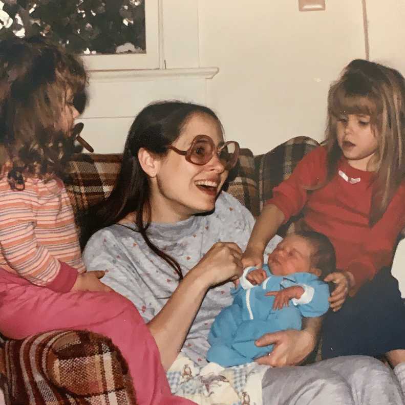
M 81 55 L 89 72 L 159 68 L 160 0 L 144 0 L 144 2 L 146 53 Z

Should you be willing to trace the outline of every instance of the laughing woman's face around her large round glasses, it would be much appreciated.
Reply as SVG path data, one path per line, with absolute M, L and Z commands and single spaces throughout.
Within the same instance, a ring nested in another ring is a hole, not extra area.
M 188 119 L 173 146 L 186 151 L 193 139 L 201 134 L 209 136 L 216 146 L 223 143 L 219 123 L 207 114 L 196 113 Z M 227 176 L 217 154 L 199 166 L 169 150 L 159 162 L 156 177 L 151 179 L 152 221 L 178 222 L 214 209 Z

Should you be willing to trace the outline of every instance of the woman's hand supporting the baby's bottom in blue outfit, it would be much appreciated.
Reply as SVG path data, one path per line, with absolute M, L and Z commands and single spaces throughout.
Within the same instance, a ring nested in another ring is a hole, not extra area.
M 266 333 L 255 344 L 259 347 L 274 345 L 273 351 L 255 361 L 271 367 L 294 366 L 302 363 L 314 350 L 316 336 L 307 330 L 283 330 Z

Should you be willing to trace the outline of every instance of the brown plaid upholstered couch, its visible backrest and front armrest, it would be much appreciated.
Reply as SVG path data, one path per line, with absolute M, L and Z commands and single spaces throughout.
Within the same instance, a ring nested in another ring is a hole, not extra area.
M 297 137 L 259 156 L 242 149 L 227 191 L 259 215 L 272 188 L 316 145 Z M 110 194 L 120 161 L 120 155 L 75 156 L 65 183 L 76 217 Z M 118 349 L 87 331 L 50 331 L 24 340 L 0 336 L 0 387 L 7 405 L 136 403 Z

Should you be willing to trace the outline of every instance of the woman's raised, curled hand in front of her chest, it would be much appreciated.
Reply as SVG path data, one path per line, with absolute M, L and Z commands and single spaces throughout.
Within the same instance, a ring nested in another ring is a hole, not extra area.
M 233 242 L 217 242 L 204 254 L 194 267 L 201 271 L 207 287 L 229 280 L 238 280 L 243 273 L 242 250 Z

